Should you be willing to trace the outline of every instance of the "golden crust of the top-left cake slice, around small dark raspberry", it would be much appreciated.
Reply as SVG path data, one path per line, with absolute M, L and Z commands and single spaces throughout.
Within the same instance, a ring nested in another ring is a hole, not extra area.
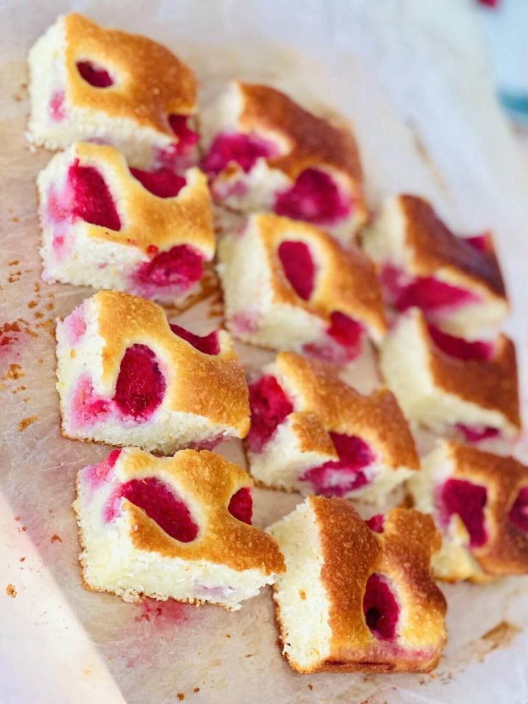
M 77 13 L 65 15 L 63 26 L 69 101 L 77 108 L 132 120 L 177 142 L 168 115 L 194 113 L 191 69 L 151 39 L 106 30 Z M 108 88 L 93 87 L 81 77 L 77 61 L 93 61 L 117 80 Z

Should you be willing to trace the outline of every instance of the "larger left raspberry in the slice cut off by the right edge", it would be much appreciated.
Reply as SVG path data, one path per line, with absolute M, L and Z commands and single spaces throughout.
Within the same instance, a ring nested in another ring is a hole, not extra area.
M 448 479 L 439 491 L 439 520 L 448 526 L 451 516 L 460 516 L 470 534 L 470 547 L 478 548 L 487 539 L 484 525 L 484 506 L 488 500 L 485 486 L 465 479 Z

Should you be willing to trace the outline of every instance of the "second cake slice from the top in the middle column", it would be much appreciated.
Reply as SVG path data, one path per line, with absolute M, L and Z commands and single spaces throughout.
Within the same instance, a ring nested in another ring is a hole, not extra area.
M 227 327 L 234 337 L 346 364 L 386 332 L 375 265 L 313 225 L 251 215 L 218 243 Z

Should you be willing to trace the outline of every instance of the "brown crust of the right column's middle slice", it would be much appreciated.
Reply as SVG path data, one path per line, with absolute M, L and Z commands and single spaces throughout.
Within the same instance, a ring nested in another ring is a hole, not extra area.
M 413 314 L 417 316 L 420 334 L 427 345 L 429 371 L 434 384 L 463 401 L 497 410 L 520 429 L 517 358 L 513 341 L 500 334 L 490 360 L 460 360 L 436 347 L 423 313 L 414 310 Z

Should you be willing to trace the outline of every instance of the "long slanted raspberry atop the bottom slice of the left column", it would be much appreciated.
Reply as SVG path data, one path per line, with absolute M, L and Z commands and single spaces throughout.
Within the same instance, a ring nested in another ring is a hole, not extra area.
M 117 515 L 121 498 L 127 498 L 144 510 L 165 533 L 180 543 L 190 543 L 198 535 L 198 525 L 187 506 L 177 498 L 172 487 L 157 477 L 131 479 L 122 484 L 107 507 L 107 520 Z

